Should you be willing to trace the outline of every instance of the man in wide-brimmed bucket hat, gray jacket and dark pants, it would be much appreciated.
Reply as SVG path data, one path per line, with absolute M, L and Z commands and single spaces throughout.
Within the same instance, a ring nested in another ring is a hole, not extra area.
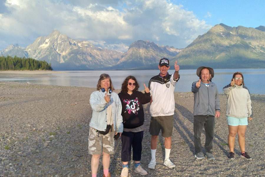
M 220 99 L 217 86 L 211 80 L 214 76 L 212 68 L 201 66 L 197 69 L 197 76 L 200 80 L 192 83 L 191 91 L 194 95 L 193 107 L 193 131 L 195 157 L 203 159 L 201 150 L 201 132 L 205 130 L 206 157 L 214 160 L 211 149 L 213 148 L 214 117 L 220 117 Z

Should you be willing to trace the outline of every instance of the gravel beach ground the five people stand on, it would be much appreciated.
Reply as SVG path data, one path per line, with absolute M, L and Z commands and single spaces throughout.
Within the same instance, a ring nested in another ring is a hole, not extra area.
M 0 177 L 91 176 L 88 131 L 92 110 L 89 98 L 95 88 L 0 82 Z M 119 90 L 115 90 L 117 93 Z M 196 160 L 193 145 L 193 94 L 175 92 L 175 121 L 170 159 L 163 165 L 164 139 L 158 139 L 157 165 L 151 159 L 148 132 L 150 104 L 145 108 L 142 167 L 147 176 L 265 176 L 265 96 L 252 94 L 254 118 L 246 131 L 246 151 L 253 160 L 240 158 L 236 138 L 235 160 L 228 160 L 226 96 L 220 94 L 221 117 L 216 118 L 213 155 L 216 160 Z M 202 135 L 204 144 L 205 136 Z M 111 176 L 120 176 L 121 141 L 111 155 Z M 203 149 L 204 150 L 204 149 Z M 98 176 L 103 176 L 102 161 Z M 129 177 L 140 177 L 129 163 Z

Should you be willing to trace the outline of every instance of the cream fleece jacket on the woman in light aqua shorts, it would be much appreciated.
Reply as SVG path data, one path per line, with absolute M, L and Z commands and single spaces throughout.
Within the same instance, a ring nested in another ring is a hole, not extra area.
M 223 88 L 227 97 L 226 116 L 244 118 L 253 117 L 250 93 L 246 86 L 228 84 Z

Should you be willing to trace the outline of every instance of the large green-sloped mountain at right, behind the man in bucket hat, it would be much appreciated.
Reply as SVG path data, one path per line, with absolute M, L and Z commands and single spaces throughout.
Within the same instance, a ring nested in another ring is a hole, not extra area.
M 265 68 L 265 27 L 217 24 L 172 59 L 182 68 Z

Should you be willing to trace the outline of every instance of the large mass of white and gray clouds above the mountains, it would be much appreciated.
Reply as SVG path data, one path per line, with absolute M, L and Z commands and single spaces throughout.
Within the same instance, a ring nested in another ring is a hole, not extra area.
M 135 40 L 183 48 L 211 28 L 169 0 L 7 0 L 5 6 L 9 13 L 0 15 L 0 38 L 5 41 L 0 50 L 14 41 L 26 47 L 55 29 L 120 51 Z

